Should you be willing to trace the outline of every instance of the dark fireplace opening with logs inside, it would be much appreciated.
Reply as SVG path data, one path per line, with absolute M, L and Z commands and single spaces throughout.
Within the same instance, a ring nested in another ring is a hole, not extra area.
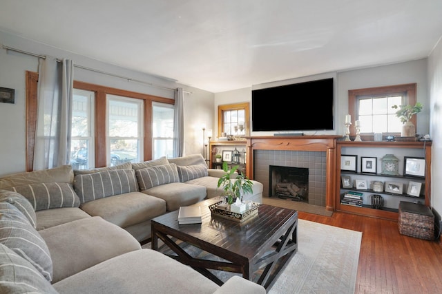
M 309 202 L 309 169 L 269 166 L 269 197 Z

